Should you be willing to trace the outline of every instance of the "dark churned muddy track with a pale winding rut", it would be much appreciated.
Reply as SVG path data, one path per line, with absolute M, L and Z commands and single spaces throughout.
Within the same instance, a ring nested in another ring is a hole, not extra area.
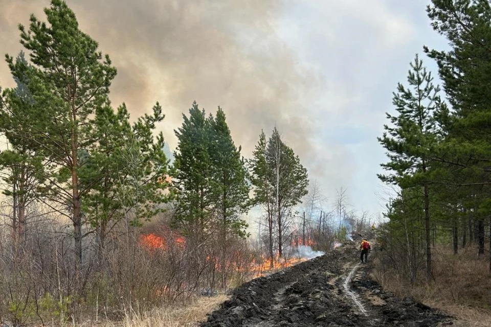
M 370 264 L 343 248 L 236 289 L 202 327 L 441 326 L 452 318 L 397 298 L 370 278 Z

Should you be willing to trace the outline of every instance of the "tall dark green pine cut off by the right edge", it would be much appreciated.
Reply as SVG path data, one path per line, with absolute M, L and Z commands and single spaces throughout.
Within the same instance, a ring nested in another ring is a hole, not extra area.
M 447 165 L 442 182 L 465 190 L 463 210 L 477 218 L 479 253 L 484 253 L 484 219 L 491 215 L 491 5 L 488 1 L 433 0 L 428 6 L 433 28 L 445 36 L 450 51 L 425 48 L 439 66 L 452 113 L 447 137 L 435 156 Z M 473 218 L 473 217 L 471 217 Z M 471 219 L 470 218 L 470 219 Z M 490 259 L 491 269 L 491 259 Z

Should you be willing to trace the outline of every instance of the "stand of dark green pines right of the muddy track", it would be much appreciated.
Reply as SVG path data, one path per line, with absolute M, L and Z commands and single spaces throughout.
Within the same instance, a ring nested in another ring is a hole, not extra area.
M 440 245 L 491 253 L 491 5 L 433 0 L 427 12 L 450 44 L 448 51 L 424 47 L 443 90 L 416 56 L 378 139 L 389 157 L 379 177 L 398 193 L 380 229 L 384 266 L 411 283 L 436 278 L 432 253 Z

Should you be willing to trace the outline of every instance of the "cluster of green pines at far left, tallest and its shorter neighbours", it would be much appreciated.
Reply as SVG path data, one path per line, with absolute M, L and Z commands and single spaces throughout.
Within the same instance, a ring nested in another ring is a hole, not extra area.
M 15 62 L 6 56 L 17 88 L 0 101 L 0 131 L 13 147 L 0 165 L 11 171 L 6 181 L 23 185 L 16 191 L 23 203 L 40 199 L 73 221 L 80 267 L 82 225 L 102 238 L 109 223 L 132 215 L 139 226 L 169 200 L 164 137 L 154 136 L 164 114 L 157 103 L 130 124 L 124 104 L 110 106 L 116 68 L 109 57 L 64 1 L 52 0 L 44 13 L 48 22 L 31 15 L 28 30 L 19 26 L 30 63 L 23 53 Z

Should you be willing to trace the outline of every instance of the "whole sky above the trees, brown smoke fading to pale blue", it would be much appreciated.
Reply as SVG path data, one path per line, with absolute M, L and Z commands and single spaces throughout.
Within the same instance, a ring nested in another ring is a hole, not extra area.
M 277 126 L 333 203 L 347 188 L 359 211 L 383 211 L 376 174 L 386 161 L 376 137 L 394 111 L 392 92 L 422 46 L 446 48 L 428 0 L 68 0 L 82 31 L 118 68 L 115 106 L 133 115 L 159 101 L 173 130 L 196 100 L 221 106 L 250 157 L 261 129 Z M 48 0 L 0 0 L 0 53 L 21 49 L 17 25 L 45 19 Z M 12 86 L 0 64 L 0 85 Z

